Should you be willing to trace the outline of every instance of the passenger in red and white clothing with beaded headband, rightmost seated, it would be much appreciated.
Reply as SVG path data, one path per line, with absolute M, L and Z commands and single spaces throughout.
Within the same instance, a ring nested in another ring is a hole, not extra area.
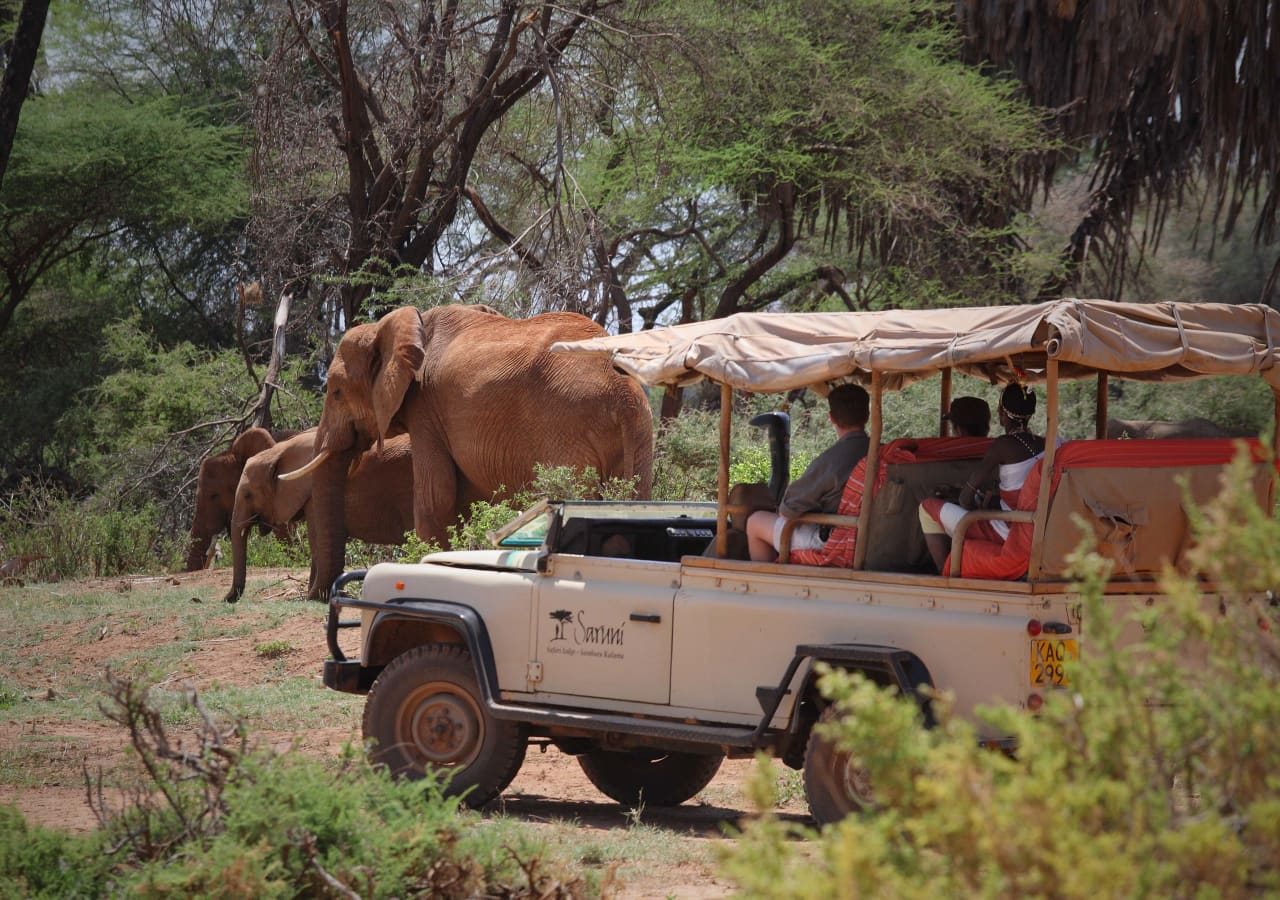
M 1044 438 L 1032 434 L 1028 428 L 1032 414 L 1036 412 L 1034 390 L 1018 383 L 1007 385 L 1000 396 L 998 412 L 1005 434 L 991 443 L 991 448 L 978 463 L 977 471 L 965 481 L 959 503 L 947 503 L 938 498 L 929 498 L 920 503 L 920 530 L 924 531 L 924 543 L 929 548 L 929 556 L 938 572 L 945 571 L 947 556 L 951 553 L 951 535 L 955 533 L 955 526 L 969 510 L 987 506 L 987 498 L 982 495 L 979 488 L 998 471 L 1000 502 L 993 508 L 1015 508 L 1014 504 L 1028 472 L 1036 466 L 1036 461 L 1044 454 Z M 977 522 L 968 534 L 975 539 L 998 544 L 1009 536 L 1009 524 L 1002 521 Z

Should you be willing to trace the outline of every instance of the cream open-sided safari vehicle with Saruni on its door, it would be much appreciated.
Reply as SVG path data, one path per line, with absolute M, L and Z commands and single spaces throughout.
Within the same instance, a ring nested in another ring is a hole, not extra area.
M 817 663 L 896 686 L 927 725 L 924 689 L 950 691 L 983 741 L 1007 743 L 977 707 L 1036 711 L 1087 638 L 1065 575 L 1080 538 L 1073 516 L 1116 561 L 1111 602 L 1156 604 L 1156 572 L 1179 565 L 1189 542 L 1181 485 L 1196 502 L 1211 498 L 1240 447 L 1102 439 L 1108 379 L 1256 375 L 1280 397 L 1277 339 L 1280 314 L 1261 306 L 1064 300 L 744 314 L 557 346 L 608 353 L 650 385 L 719 383 L 717 502 L 543 502 L 494 534 L 494 549 L 346 574 L 330 600 L 324 681 L 367 693 L 364 732 L 379 760 L 408 775 L 452 769 L 451 790 L 470 791 L 471 804 L 509 783 L 531 743 L 577 757 L 620 803 L 650 805 L 682 803 L 726 755 L 763 750 L 803 768 L 813 816 L 835 821 L 869 787 L 814 730 L 836 714 L 815 686 Z M 1001 577 L 970 571 L 966 522 L 947 574 L 933 574 L 915 517 L 933 485 L 973 471 L 986 443 L 947 437 L 941 416 L 938 437 L 881 440 L 884 392 L 937 376 L 941 414 L 955 371 L 1037 384 L 1046 401 L 1043 478 L 1028 479 L 1014 512 L 966 517 L 1012 524 L 986 557 L 983 571 L 995 561 Z M 1085 378 L 1097 385 L 1098 439 L 1059 443 L 1060 383 Z M 728 558 L 731 516 L 745 512 L 730 501 L 733 392 L 842 380 L 869 389 L 870 452 L 846 488 L 849 515 L 817 521 L 845 530 L 847 557 L 795 565 L 783 547 L 773 563 Z M 1270 508 L 1272 469 L 1256 440 L 1244 444 Z M 339 645 L 347 627 L 360 629 L 352 658 Z

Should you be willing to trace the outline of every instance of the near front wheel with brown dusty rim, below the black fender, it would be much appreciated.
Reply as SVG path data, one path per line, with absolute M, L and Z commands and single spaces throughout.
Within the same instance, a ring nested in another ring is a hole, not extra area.
M 527 726 L 484 708 L 471 654 L 458 644 L 425 644 L 396 657 L 369 691 L 365 740 L 393 775 L 449 773 L 445 794 L 483 807 L 520 771 Z

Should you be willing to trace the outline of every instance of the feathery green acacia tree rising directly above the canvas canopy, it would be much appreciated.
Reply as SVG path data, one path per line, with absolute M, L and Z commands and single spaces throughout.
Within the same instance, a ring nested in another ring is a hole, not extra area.
M 543 184 L 509 192 L 525 209 L 508 207 L 503 233 L 525 268 L 559 283 L 590 273 L 568 293 L 620 330 L 778 301 L 1025 293 L 1018 164 L 1047 140 L 1011 84 L 960 60 L 948 6 L 680 0 L 644 13 L 632 55 L 591 79 L 612 91 L 579 106 L 559 219 L 547 145 L 503 145 Z M 576 241 L 554 239 L 557 220 Z

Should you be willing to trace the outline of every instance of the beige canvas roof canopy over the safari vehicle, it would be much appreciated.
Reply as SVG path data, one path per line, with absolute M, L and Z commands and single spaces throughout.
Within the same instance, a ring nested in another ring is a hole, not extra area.
M 1280 312 L 1261 305 L 1056 300 L 881 312 L 740 312 L 552 348 L 605 353 L 645 384 L 710 379 L 773 393 L 882 374 L 899 388 L 943 369 L 1007 382 L 1097 373 L 1165 382 L 1260 375 L 1280 389 Z

